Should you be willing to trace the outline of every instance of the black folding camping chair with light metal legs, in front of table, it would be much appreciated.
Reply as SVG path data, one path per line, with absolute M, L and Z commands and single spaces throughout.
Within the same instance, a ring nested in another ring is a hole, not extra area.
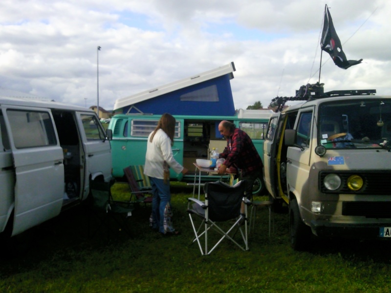
M 241 203 L 243 201 L 245 202 L 246 199 L 244 180 L 239 181 L 234 186 L 229 186 L 221 181 L 207 182 L 204 185 L 204 191 L 205 202 L 195 198 L 189 198 L 187 209 L 195 233 L 193 242 L 196 241 L 198 243 L 201 254 L 210 254 L 224 238 L 231 240 L 241 250 L 247 251 L 249 249 L 247 239 L 247 204 L 244 208 L 244 214 L 240 212 Z M 198 230 L 195 229 L 195 218 L 201 219 Z M 242 229 L 243 222 L 244 231 Z M 229 229 L 224 232 L 223 229 L 226 226 L 229 226 Z M 211 228 L 222 235 L 222 237 L 211 250 L 208 250 L 208 231 Z M 238 230 L 243 244 L 239 244 L 233 239 Z M 200 242 L 201 236 L 205 237 L 204 249 Z

